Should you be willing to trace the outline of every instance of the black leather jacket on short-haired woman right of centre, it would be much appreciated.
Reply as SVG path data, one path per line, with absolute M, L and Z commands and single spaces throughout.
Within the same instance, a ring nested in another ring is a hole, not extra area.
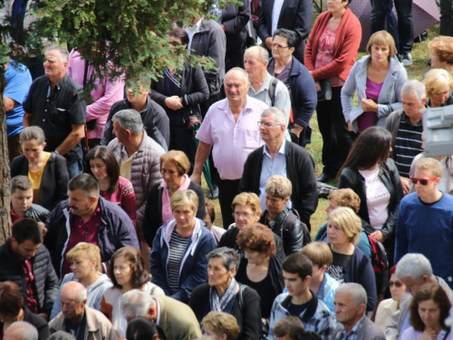
M 284 255 L 289 256 L 298 253 L 301 249 L 310 242 L 310 233 L 308 228 L 301 222 L 300 219 L 295 219 L 291 228 L 284 228 L 284 222 L 288 219 L 291 209 L 285 208 L 278 216 L 268 221 L 266 219 L 267 210 L 263 212 L 259 222 L 272 229 L 272 231 L 282 238 L 284 243 Z M 308 240 L 306 239 L 308 235 Z

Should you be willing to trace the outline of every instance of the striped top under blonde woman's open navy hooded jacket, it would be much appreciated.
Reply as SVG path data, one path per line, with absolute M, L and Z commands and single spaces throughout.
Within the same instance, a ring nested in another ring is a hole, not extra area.
M 171 233 L 169 241 L 169 261 L 167 262 L 167 282 L 171 294 L 175 294 L 179 289 L 179 269 L 182 257 L 188 248 L 188 242 L 192 237 L 181 237 L 176 229 Z

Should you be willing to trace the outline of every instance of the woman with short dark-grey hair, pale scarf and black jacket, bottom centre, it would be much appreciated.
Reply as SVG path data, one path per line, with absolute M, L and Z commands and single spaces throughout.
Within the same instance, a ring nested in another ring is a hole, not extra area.
M 234 249 L 217 248 L 207 254 L 207 284 L 194 289 L 188 306 L 201 322 L 209 312 L 236 317 L 238 340 L 256 340 L 261 334 L 260 297 L 255 289 L 236 282 L 240 257 Z

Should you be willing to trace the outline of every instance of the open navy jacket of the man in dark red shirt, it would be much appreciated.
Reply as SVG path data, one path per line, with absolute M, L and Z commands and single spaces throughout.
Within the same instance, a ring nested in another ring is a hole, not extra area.
M 140 249 L 140 244 L 134 224 L 123 209 L 101 197 L 99 204 L 101 226 L 98 230 L 98 242 L 102 260 L 107 265 L 116 250 L 128 246 Z M 69 211 L 68 199 L 66 199 L 53 209 L 51 216 L 45 221 L 47 234 L 45 234 L 44 245 L 51 253 L 53 267 L 60 278 L 63 254 L 71 234 L 73 219 L 74 216 Z

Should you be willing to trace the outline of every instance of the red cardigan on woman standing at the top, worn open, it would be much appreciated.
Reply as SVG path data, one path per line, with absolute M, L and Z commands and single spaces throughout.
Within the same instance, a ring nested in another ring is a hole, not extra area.
M 338 28 L 333 47 L 333 61 L 320 69 L 314 70 L 318 44 L 325 26 L 332 17 L 330 12 L 319 15 L 313 25 L 312 34 L 308 38 L 305 47 L 304 64 L 308 71 L 312 72 L 315 81 L 329 79 L 338 75 L 343 81 L 348 78 L 352 65 L 357 60 L 357 51 L 361 44 L 361 23 L 351 9 L 347 8 L 342 15 L 342 22 Z

